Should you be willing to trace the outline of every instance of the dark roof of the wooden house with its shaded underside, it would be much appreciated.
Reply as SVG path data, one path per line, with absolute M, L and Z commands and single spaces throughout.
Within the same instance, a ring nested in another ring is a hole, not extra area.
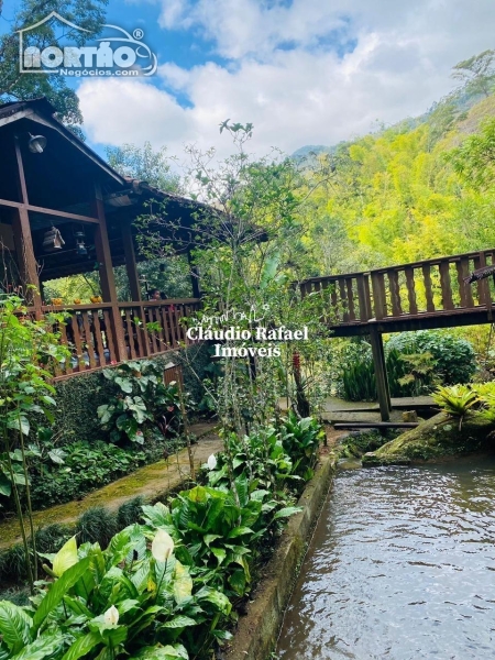
M 38 132 L 47 138 L 47 146 L 41 157 L 30 153 L 28 148 L 29 134 Z M 16 187 L 14 168 L 11 166 L 14 154 L 12 151 L 9 157 L 11 147 L 8 146 L 12 143 L 12 136 L 16 136 L 20 142 L 31 205 L 90 216 L 94 200 L 90 186 L 96 182 L 100 184 L 114 266 L 125 263 L 122 224 L 148 213 L 148 202 L 152 200 L 164 202 L 164 206 L 155 207 L 156 222 L 150 226 L 150 231 L 160 233 L 178 253 L 196 245 L 201 233 L 202 240 L 207 235 L 211 238 L 212 212 L 222 218 L 220 224 L 223 230 L 229 229 L 229 219 L 226 217 L 223 221 L 221 210 L 119 174 L 56 118 L 56 109 L 46 98 L 0 106 L 0 150 L 3 142 L 7 155 L 0 160 L 0 198 L 15 199 L 1 194 L 2 186 L 4 189 L 10 186 L 12 190 Z M 164 217 L 167 218 L 167 223 L 163 222 Z M 84 273 L 92 268 L 95 260 L 90 262 L 76 257 L 74 228 L 70 226 L 77 222 L 52 217 L 46 212 L 30 212 L 30 222 L 35 256 L 43 262 L 42 279 Z M 63 251 L 46 254 L 43 250 L 43 237 L 52 224 L 61 228 L 67 243 Z M 134 239 L 138 231 L 132 226 Z M 91 240 L 91 228 L 86 228 L 88 241 Z M 139 261 L 145 258 L 142 254 L 136 256 Z

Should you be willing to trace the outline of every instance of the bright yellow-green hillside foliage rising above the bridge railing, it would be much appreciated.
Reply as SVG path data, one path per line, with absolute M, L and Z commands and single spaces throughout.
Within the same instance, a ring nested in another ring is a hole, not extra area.
M 329 156 L 331 185 L 312 193 L 305 221 L 314 270 L 361 271 L 495 244 L 493 177 L 480 190 L 448 157 L 465 142 L 465 151 L 470 141 L 479 145 L 473 132 L 487 141 L 495 97 L 458 110 L 439 129 L 440 110 L 419 125 L 404 122 L 339 145 Z M 314 176 L 308 173 L 308 188 Z

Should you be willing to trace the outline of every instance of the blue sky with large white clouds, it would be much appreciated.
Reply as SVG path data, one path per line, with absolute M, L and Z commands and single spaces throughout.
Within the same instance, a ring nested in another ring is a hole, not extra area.
M 260 155 L 332 145 L 424 113 L 455 87 L 454 64 L 495 47 L 494 0 L 110 0 L 107 23 L 141 28 L 158 70 L 77 84 L 100 152 L 227 155 L 226 119 L 254 124 Z

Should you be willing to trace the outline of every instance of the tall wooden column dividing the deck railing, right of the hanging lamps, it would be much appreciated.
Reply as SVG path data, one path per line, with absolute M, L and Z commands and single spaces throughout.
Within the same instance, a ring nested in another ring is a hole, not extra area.
M 98 218 L 98 226 L 95 232 L 95 248 L 97 260 L 100 264 L 100 284 L 105 302 L 111 302 L 110 309 L 110 331 L 114 338 L 117 360 L 123 362 L 128 360 L 128 349 L 125 346 L 124 327 L 120 308 L 117 300 L 116 279 L 113 277 L 112 255 L 108 240 L 107 219 L 105 216 L 103 198 L 99 185 L 95 186 L 95 211 Z

